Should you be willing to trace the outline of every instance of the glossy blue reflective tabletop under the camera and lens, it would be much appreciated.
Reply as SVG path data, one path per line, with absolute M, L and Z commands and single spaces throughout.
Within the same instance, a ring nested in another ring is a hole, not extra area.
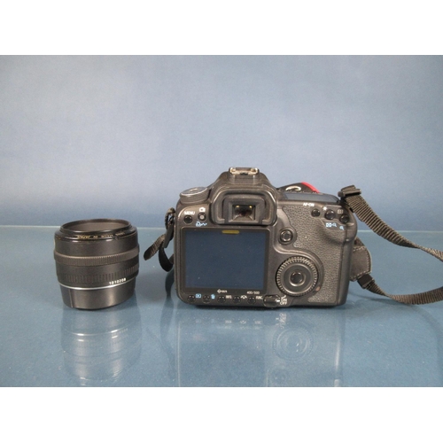
M 342 307 L 193 307 L 157 258 L 117 307 L 65 307 L 56 228 L 1 227 L 2 386 L 441 386 L 443 302 L 400 305 L 351 284 Z M 138 229 L 142 253 L 162 229 Z M 443 233 L 404 233 L 443 249 Z M 359 233 L 385 291 L 441 286 L 441 263 Z

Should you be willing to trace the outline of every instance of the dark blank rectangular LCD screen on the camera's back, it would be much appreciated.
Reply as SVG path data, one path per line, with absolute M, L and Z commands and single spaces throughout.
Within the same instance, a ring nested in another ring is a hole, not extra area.
M 183 234 L 187 289 L 265 289 L 266 229 L 184 229 Z

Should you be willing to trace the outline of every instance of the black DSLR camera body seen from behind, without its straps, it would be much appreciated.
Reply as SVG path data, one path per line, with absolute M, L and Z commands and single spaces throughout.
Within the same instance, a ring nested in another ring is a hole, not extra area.
M 175 287 L 186 303 L 233 307 L 346 302 L 357 223 L 307 183 L 276 188 L 231 167 L 184 190 L 175 210 Z

